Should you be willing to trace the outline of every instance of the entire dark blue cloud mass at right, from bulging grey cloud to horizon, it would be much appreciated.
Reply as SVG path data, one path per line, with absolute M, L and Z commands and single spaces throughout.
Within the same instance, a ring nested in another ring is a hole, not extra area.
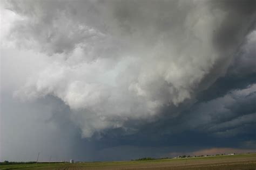
M 158 121 L 140 127 L 138 133 L 130 136 L 123 136 L 122 129 L 111 130 L 98 140 L 98 146 L 165 146 L 172 152 L 181 152 L 181 148 L 171 148 L 181 145 L 184 153 L 209 147 L 253 150 L 251 141 L 256 140 L 255 45 L 253 32 L 235 55 L 226 75 L 201 91 L 197 103 L 166 107 Z M 170 112 L 178 114 L 170 115 Z

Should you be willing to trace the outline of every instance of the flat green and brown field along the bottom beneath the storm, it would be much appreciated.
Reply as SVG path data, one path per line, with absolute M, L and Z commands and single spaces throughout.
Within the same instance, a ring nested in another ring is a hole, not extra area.
M 47 169 L 47 170 L 82 170 L 82 169 L 256 169 L 256 153 L 198 157 L 183 159 L 158 159 L 149 161 L 112 161 L 85 162 L 77 164 L 26 164 L 0 165 L 0 169 Z

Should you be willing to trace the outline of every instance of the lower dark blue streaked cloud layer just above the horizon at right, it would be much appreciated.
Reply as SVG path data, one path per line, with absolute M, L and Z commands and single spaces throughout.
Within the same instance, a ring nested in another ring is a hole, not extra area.
M 184 153 L 212 147 L 253 150 L 254 145 L 245 145 L 256 140 L 255 85 L 249 89 L 250 92 L 234 91 L 225 97 L 197 103 L 177 117 L 162 117 L 131 135 L 124 135 L 121 129 L 110 130 L 96 140 L 97 146 L 99 149 L 127 145 L 165 147 L 166 152 Z

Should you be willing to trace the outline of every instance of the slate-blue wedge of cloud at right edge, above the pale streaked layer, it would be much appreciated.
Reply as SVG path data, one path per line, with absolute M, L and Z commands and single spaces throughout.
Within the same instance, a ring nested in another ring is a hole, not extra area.
M 224 96 L 228 91 L 243 89 L 256 82 L 256 36 L 255 31 L 249 34 L 235 54 L 225 76 L 219 77 L 208 89 L 200 91 L 199 101 L 208 101 Z

